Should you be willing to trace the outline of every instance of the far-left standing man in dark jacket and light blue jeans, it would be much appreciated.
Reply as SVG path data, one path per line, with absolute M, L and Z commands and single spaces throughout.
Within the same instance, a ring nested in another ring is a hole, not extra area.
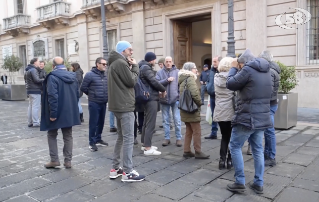
M 40 62 L 33 58 L 25 68 L 24 81 L 29 96 L 28 127 L 40 127 L 39 110 L 41 106 L 41 89 L 44 79 L 40 79 L 38 69 Z

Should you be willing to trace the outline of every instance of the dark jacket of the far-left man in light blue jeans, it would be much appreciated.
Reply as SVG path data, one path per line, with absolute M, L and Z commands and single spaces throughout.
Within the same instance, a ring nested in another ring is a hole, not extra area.
M 34 65 L 29 64 L 25 68 L 24 81 L 27 94 L 41 94 L 44 78 L 40 78 L 39 71 Z

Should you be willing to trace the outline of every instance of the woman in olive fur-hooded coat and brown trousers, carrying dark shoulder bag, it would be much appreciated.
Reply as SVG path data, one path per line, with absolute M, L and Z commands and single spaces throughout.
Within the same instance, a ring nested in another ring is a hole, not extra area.
M 188 113 L 180 110 L 181 121 L 185 122 L 186 133 L 184 143 L 184 157 L 195 157 L 195 159 L 208 159 L 209 155 L 201 152 L 201 126 L 200 126 L 200 106 L 201 98 L 199 88 L 196 84 L 197 68 L 195 63 L 185 63 L 183 69 L 178 72 L 178 83 L 180 84 L 180 94 L 182 95 L 184 89 L 188 89 L 191 94 L 198 111 L 195 113 Z M 190 144 L 194 141 L 195 154 L 191 152 Z

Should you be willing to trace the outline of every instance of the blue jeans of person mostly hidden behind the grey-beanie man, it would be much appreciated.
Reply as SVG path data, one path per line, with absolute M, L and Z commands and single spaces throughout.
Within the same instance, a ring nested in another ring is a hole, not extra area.
M 274 115 L 278 109 L 278 105 L 271 105 L 270 106 L 270 117 L 272 119 L 273 127 L 267 128 L 264 130 L 264 151 L 263 153 L 271 158 L 275 159 L 276 157 L 276 135 L 275 135 L 275 121 Z

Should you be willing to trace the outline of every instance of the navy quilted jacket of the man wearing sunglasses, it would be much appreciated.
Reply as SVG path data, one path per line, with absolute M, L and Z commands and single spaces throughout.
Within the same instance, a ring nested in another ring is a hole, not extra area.
M 108 103 L 108 74 L 93 67 L 85 74 L 80 90 L 91 102 L 99 105 Z

